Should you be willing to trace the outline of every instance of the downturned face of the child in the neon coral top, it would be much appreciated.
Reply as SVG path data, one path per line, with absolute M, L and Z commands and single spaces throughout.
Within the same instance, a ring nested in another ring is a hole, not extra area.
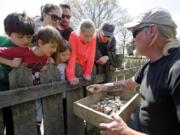
M 80 37 L 84 42 L 90 42 L 94 36 L 95 30 L 91 29 L 84 29 L 80 32 Z

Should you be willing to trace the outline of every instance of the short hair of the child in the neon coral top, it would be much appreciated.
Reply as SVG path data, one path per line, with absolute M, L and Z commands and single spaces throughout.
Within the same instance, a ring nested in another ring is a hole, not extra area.
M 94 29 L 95 30 L 95 24 L 90 19 L 84 19 L 80 22 L 79 29 L 80 31 L 83 31 L 84 29 Z

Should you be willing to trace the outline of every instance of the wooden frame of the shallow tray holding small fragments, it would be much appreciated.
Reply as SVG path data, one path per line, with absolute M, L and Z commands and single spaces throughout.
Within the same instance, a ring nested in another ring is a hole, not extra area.
M 111 116 L 108 116 L 102 112 L 98 112 L 89 107 L 91 104 L 97 103 L 100 98 L 107 94 L 112 95 L 113 93 L 93 94 L 74 102 L 73 108 L 75 115 L 77 115 L 81 119 L 86 120 L 88 123 L 96 127 L 99 126 L 99 123 L 111 122 L 113 120 Z M 122 100 L 127 100 L 128 102 L 121 107 L 120 111 L 117 114 L 121 116 L 124 121 L 127 121 L 129 116 L 139 103 L 139 94 L 133 94 L 129 96 L 127 94 L 121 93 L 119 95 Z

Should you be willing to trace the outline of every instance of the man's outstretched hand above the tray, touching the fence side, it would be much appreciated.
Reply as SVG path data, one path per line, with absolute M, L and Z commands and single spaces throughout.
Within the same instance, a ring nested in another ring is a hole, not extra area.
M 93 84 L 93 85 L 87 86 L 86 89 L 91 93 L 99 93 L 102 91 L 106 91 L 107 86 L 105 86 L 103 84 Z

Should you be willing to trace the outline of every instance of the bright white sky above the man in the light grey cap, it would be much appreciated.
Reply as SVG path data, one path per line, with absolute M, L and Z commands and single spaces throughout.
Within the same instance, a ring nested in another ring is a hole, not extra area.
M 175 23 L 177 24 L 177 33 L 180 37 L 180 0 L 119 0 L 122 8 L 126 8 L 128 13 L 135 17 L 140 13 L 154 7 L 161 7 L 168 10 Z

